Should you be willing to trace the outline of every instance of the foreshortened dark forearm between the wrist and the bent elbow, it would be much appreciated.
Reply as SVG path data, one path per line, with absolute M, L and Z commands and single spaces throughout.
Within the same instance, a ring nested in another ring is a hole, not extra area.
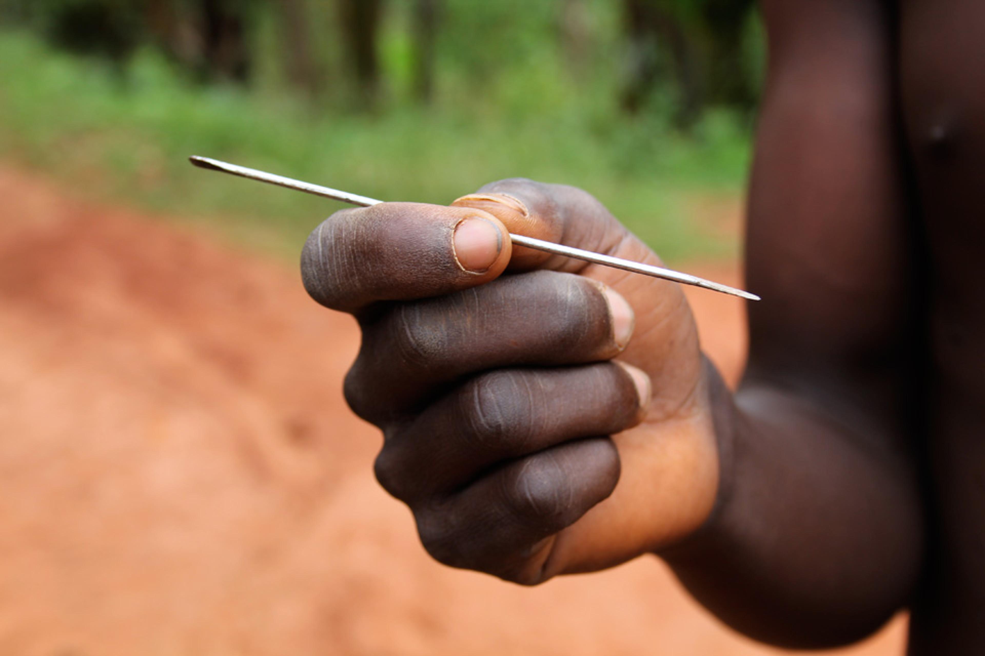
M 803 393 L 749 384 L 711 395 L 718 507 L 661 556 L 721 620 L 791 647 L 849 642 L 907 601 L 921 511 L 907 459 Z

